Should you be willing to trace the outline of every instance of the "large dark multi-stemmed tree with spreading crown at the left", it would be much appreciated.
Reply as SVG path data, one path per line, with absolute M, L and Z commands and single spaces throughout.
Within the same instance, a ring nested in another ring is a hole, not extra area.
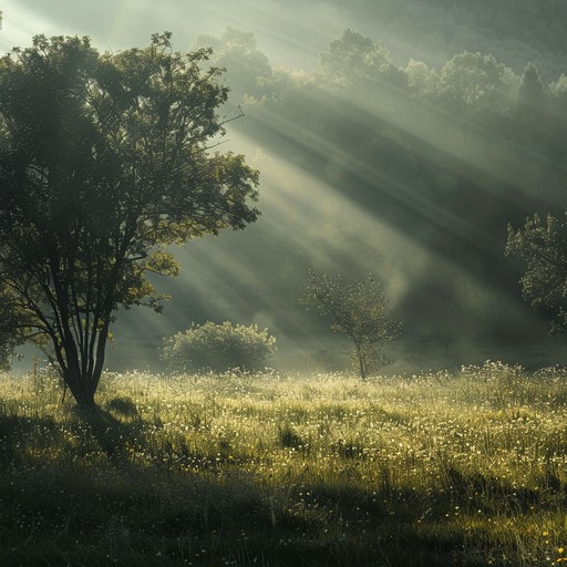
M 209 50 L 100 53 L 37 37 L 0 61 L 0 282 L 19 333 L 49 344 L 80 405 L 94 405 L 120 308 L 159 309 L 164 247 L 258 210 L 257 172 L 213 148 L 228 89 Z

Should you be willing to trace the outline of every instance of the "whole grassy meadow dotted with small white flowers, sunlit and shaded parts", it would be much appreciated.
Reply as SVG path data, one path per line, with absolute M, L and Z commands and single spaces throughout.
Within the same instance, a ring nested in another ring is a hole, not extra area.
M 567 564 L 567 371 L 0 377 L 0 566 Z

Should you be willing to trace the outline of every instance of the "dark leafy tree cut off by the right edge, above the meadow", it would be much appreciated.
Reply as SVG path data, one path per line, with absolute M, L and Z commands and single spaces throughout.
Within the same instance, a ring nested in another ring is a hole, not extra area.
M 534 215 L 523 228 L 508 226 L 506 255 L 524 260 L 524 298 L 553 313 L 551 332 L 567 332 L 567 215 L 548 215 L 545 223 Z

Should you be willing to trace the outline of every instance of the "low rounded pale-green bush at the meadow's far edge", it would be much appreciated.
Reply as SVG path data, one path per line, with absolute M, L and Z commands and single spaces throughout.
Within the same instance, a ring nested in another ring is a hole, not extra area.
M 163 358 L 177 372 L 258 371 L 276 350 L 276 338 L 256 324 L 245 327 L 225 321 L 192 326 L 165 340 Z

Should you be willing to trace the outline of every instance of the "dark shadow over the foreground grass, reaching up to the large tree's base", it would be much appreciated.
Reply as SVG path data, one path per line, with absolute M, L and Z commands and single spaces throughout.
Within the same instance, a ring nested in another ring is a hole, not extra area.
M 0 464 L 0 565 L 480 567 L 488 558 L 509 565 L 489 555 L 487 542 L 496 539 L 486 535 L 488 519 L 546 505 L 542 491 L 454 466 L 443 471 L 436 492 L 401 487 L 385 472 L 365 487 L 358 476 L 298 476 L 277 485 L 225 461 L 194 473 L 184 468 L 179 446 L 172 453 L 148 431 L 127 398 L 74 411 L 63 423 L 0 415 L 0 443 L 16 463 Z M 38 452 L 49 441 L 64 458 L 54 453 L 50 463 Z M 133 446 L 150 461 L 130 458 Z M 184 447 L 187 460 L 195 456 Z M 354 445 L 338 449 L 341 463 L 355 470 Z M 542 486 L 565 498 L 551 473 Z M 455 506 L 474 517 L 478 536 L 446 517 Z

